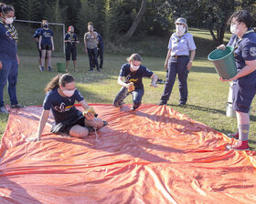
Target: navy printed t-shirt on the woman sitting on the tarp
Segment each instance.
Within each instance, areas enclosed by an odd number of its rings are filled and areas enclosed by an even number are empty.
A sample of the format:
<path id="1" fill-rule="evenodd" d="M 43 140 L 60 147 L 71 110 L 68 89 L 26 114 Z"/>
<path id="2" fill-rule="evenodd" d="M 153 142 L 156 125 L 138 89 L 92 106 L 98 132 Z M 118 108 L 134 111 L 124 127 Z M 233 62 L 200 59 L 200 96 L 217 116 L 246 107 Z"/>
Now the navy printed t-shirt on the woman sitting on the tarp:
<path id="1" fill-rule="evenodd" d="M 45 110 L 51 109 L 55 123 L 63 122 L 72 117 L 81 115 L 81 111 L 78 110 L 74 104 L 77 100 L 82 101 L 84 98 L 80 95 L 80 92 L 76 89 L 75 93 L 71 97 L 62 97 L 59 95 L 58 87 L 48 92 L 45 97 L 43 108 Z"/>

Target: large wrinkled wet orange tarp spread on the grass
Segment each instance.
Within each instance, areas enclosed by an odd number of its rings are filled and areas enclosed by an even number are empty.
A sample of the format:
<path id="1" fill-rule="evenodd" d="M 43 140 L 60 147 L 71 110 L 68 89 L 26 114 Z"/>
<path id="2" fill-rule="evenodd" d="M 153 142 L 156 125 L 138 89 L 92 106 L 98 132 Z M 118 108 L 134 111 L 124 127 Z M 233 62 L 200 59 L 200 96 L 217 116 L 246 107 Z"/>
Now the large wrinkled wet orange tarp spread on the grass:
<path id="1" fill-rule="evenodd" d="M 92 104 L 109 125 L 89 138 L 37 131 L 42 107 L 11 110 L 0 148 L 0 203 L 256 203 L 256 154 L 168 106 L 131 113 Z M 80 107 L 78 107 L 80 108 Z"/>

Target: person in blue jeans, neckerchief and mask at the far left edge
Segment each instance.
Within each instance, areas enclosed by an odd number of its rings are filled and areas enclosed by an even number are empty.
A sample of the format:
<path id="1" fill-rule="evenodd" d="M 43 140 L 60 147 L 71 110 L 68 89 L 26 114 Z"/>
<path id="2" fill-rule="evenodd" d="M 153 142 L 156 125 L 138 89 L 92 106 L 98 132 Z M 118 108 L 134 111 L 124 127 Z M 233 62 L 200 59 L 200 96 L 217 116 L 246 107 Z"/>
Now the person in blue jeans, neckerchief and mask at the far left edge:
<path id="1" fill-rule="evenodd" d="M 8 94 L 12 108 L 24 107 L 16 98 L 16 82 L 19 58 L 17 56 L 18 36 L 13 22 L 15 9 L 12 5 L 0 5 L 0 113 L 8 113 L 4 103 L 4 88 L 8 81 Z"/>

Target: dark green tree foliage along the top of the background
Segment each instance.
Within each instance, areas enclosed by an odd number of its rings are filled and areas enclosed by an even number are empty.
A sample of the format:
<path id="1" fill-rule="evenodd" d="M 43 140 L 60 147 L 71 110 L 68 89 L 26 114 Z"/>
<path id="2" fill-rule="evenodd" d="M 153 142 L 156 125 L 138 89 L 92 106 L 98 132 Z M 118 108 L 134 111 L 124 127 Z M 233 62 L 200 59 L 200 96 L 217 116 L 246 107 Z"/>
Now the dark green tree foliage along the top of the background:
<path id="1" fill-rule="evenodd" d="M 48 19 L 74 26 L 76 33 L 87 31 L 93 22 L 107 40 L 137 35 L 163 36 L 174 29 L 177 17 L 187 18 L 188 26 L 208 28 L 213 41 L 223 42 L 229 16 L 248 9 L 256 17 L 255 0 L 5 0 L 23 20 Z M 145 6 L 146 5 L 146 6 Z M 144 9 L 142 9 L 144 8 Z"/>

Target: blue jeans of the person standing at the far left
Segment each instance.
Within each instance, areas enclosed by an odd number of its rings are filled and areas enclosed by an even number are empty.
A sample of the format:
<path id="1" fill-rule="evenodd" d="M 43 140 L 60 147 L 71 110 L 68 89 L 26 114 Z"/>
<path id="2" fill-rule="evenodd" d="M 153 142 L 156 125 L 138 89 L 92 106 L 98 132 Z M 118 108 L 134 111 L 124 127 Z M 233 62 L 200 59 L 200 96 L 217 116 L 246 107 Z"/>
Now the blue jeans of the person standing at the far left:
<path id="1" fill-rule="evenodd" d="M 18 104 L 16 99 L 16 81 L 17 81 L 17 61 L 0 59 L 2 69 L 0 70 L 0 107 L 4 104 L 4 87 L 8 81 L 8 94 L 11 100 L 11 105 Z"/>

